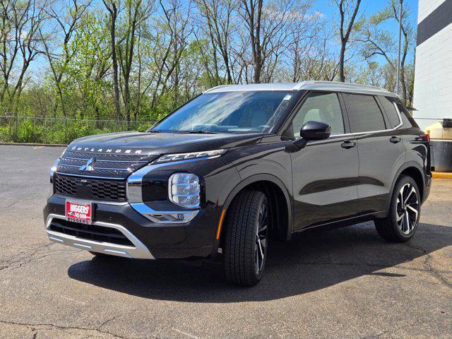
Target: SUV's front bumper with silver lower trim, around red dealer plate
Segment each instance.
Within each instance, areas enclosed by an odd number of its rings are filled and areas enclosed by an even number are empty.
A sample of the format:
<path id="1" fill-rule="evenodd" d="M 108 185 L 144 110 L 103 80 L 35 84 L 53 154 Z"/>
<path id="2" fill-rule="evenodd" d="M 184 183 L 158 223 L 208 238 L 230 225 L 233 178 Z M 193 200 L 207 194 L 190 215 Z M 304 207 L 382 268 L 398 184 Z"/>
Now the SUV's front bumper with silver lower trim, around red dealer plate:
<path id="1" fill-rule="evenodd" d="M 124 246 L 49 230 L 53 219 L 66 220 L 66 198 L 69 197 L 54 194 L 44 207 L 44 222 L 52 242 L 115 256 L 148 259 L 207 258 L 218 246 L 215 234 L 220 218 L 219 208 L 204 208 L 193 220 L 184 224 L 158 223 L 145 218 L 129 203 L 92 201 L 93 225 L 119 230 L 133 244 Z"/>

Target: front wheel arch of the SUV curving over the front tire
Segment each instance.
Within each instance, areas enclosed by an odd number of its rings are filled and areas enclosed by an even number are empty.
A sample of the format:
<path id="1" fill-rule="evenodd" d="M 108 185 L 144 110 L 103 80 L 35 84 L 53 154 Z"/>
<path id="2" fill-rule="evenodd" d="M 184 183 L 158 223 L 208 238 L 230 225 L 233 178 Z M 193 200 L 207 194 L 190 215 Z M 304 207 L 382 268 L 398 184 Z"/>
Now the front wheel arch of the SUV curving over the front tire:
<path id="1" fill-rule="evenodd" d="M 244 189 L 263 191 L 270 202 L 273 226 L 270 236 L 276 239 L 289 240 L 292 234 L 292 202 L 287 187 L 272 174 L 255 174 L 247 177 L 232 189 L 227 196 L 223 209 L 226 210 L 239 192 Z"/>

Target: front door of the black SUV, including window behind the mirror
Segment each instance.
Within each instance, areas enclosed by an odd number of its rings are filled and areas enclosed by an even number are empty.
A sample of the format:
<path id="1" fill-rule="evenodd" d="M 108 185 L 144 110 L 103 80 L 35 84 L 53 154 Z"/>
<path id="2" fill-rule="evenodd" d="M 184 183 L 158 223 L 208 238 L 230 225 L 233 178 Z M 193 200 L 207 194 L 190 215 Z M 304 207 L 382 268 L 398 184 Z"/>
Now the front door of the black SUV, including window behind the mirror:
<path id="1" fill-rule="evenodd" d="M 294 227 L 307 227 L 352 218 L 357 212 L 358 153 L 338 93 L 312 92 L 292 120 L 295 138 L 307 121 L 331 126 L 326 140 L 309 141 L 291 153 Z"/>

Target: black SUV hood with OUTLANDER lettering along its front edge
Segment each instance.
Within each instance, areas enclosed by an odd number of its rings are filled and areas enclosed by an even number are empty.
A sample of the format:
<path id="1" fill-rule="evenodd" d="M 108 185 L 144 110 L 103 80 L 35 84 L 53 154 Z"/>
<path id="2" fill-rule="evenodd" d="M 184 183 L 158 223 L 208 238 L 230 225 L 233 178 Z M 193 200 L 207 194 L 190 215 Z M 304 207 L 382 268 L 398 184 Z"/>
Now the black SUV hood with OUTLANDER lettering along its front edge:
<path id="1" fill-rule="evenodd" d="M 68 150 L 88 153 L 156 155 L 218 150 L 261 141 L 262 133 L 196 134 L 120 132 L 78 138 Z"/>

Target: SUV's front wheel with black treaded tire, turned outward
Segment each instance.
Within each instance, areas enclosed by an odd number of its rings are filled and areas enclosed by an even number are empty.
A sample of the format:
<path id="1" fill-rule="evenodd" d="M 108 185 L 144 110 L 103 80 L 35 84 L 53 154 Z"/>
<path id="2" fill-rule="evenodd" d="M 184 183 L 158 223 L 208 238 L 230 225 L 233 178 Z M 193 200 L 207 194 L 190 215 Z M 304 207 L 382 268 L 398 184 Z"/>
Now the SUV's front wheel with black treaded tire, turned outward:
<path id="1" fill-rule="evenodd" d="M 225 220 L 223 261 L 228 283 L 254 286 L 262 278 L 268 252 L 270 208 L 261 191 L 242 191 Z"/>

